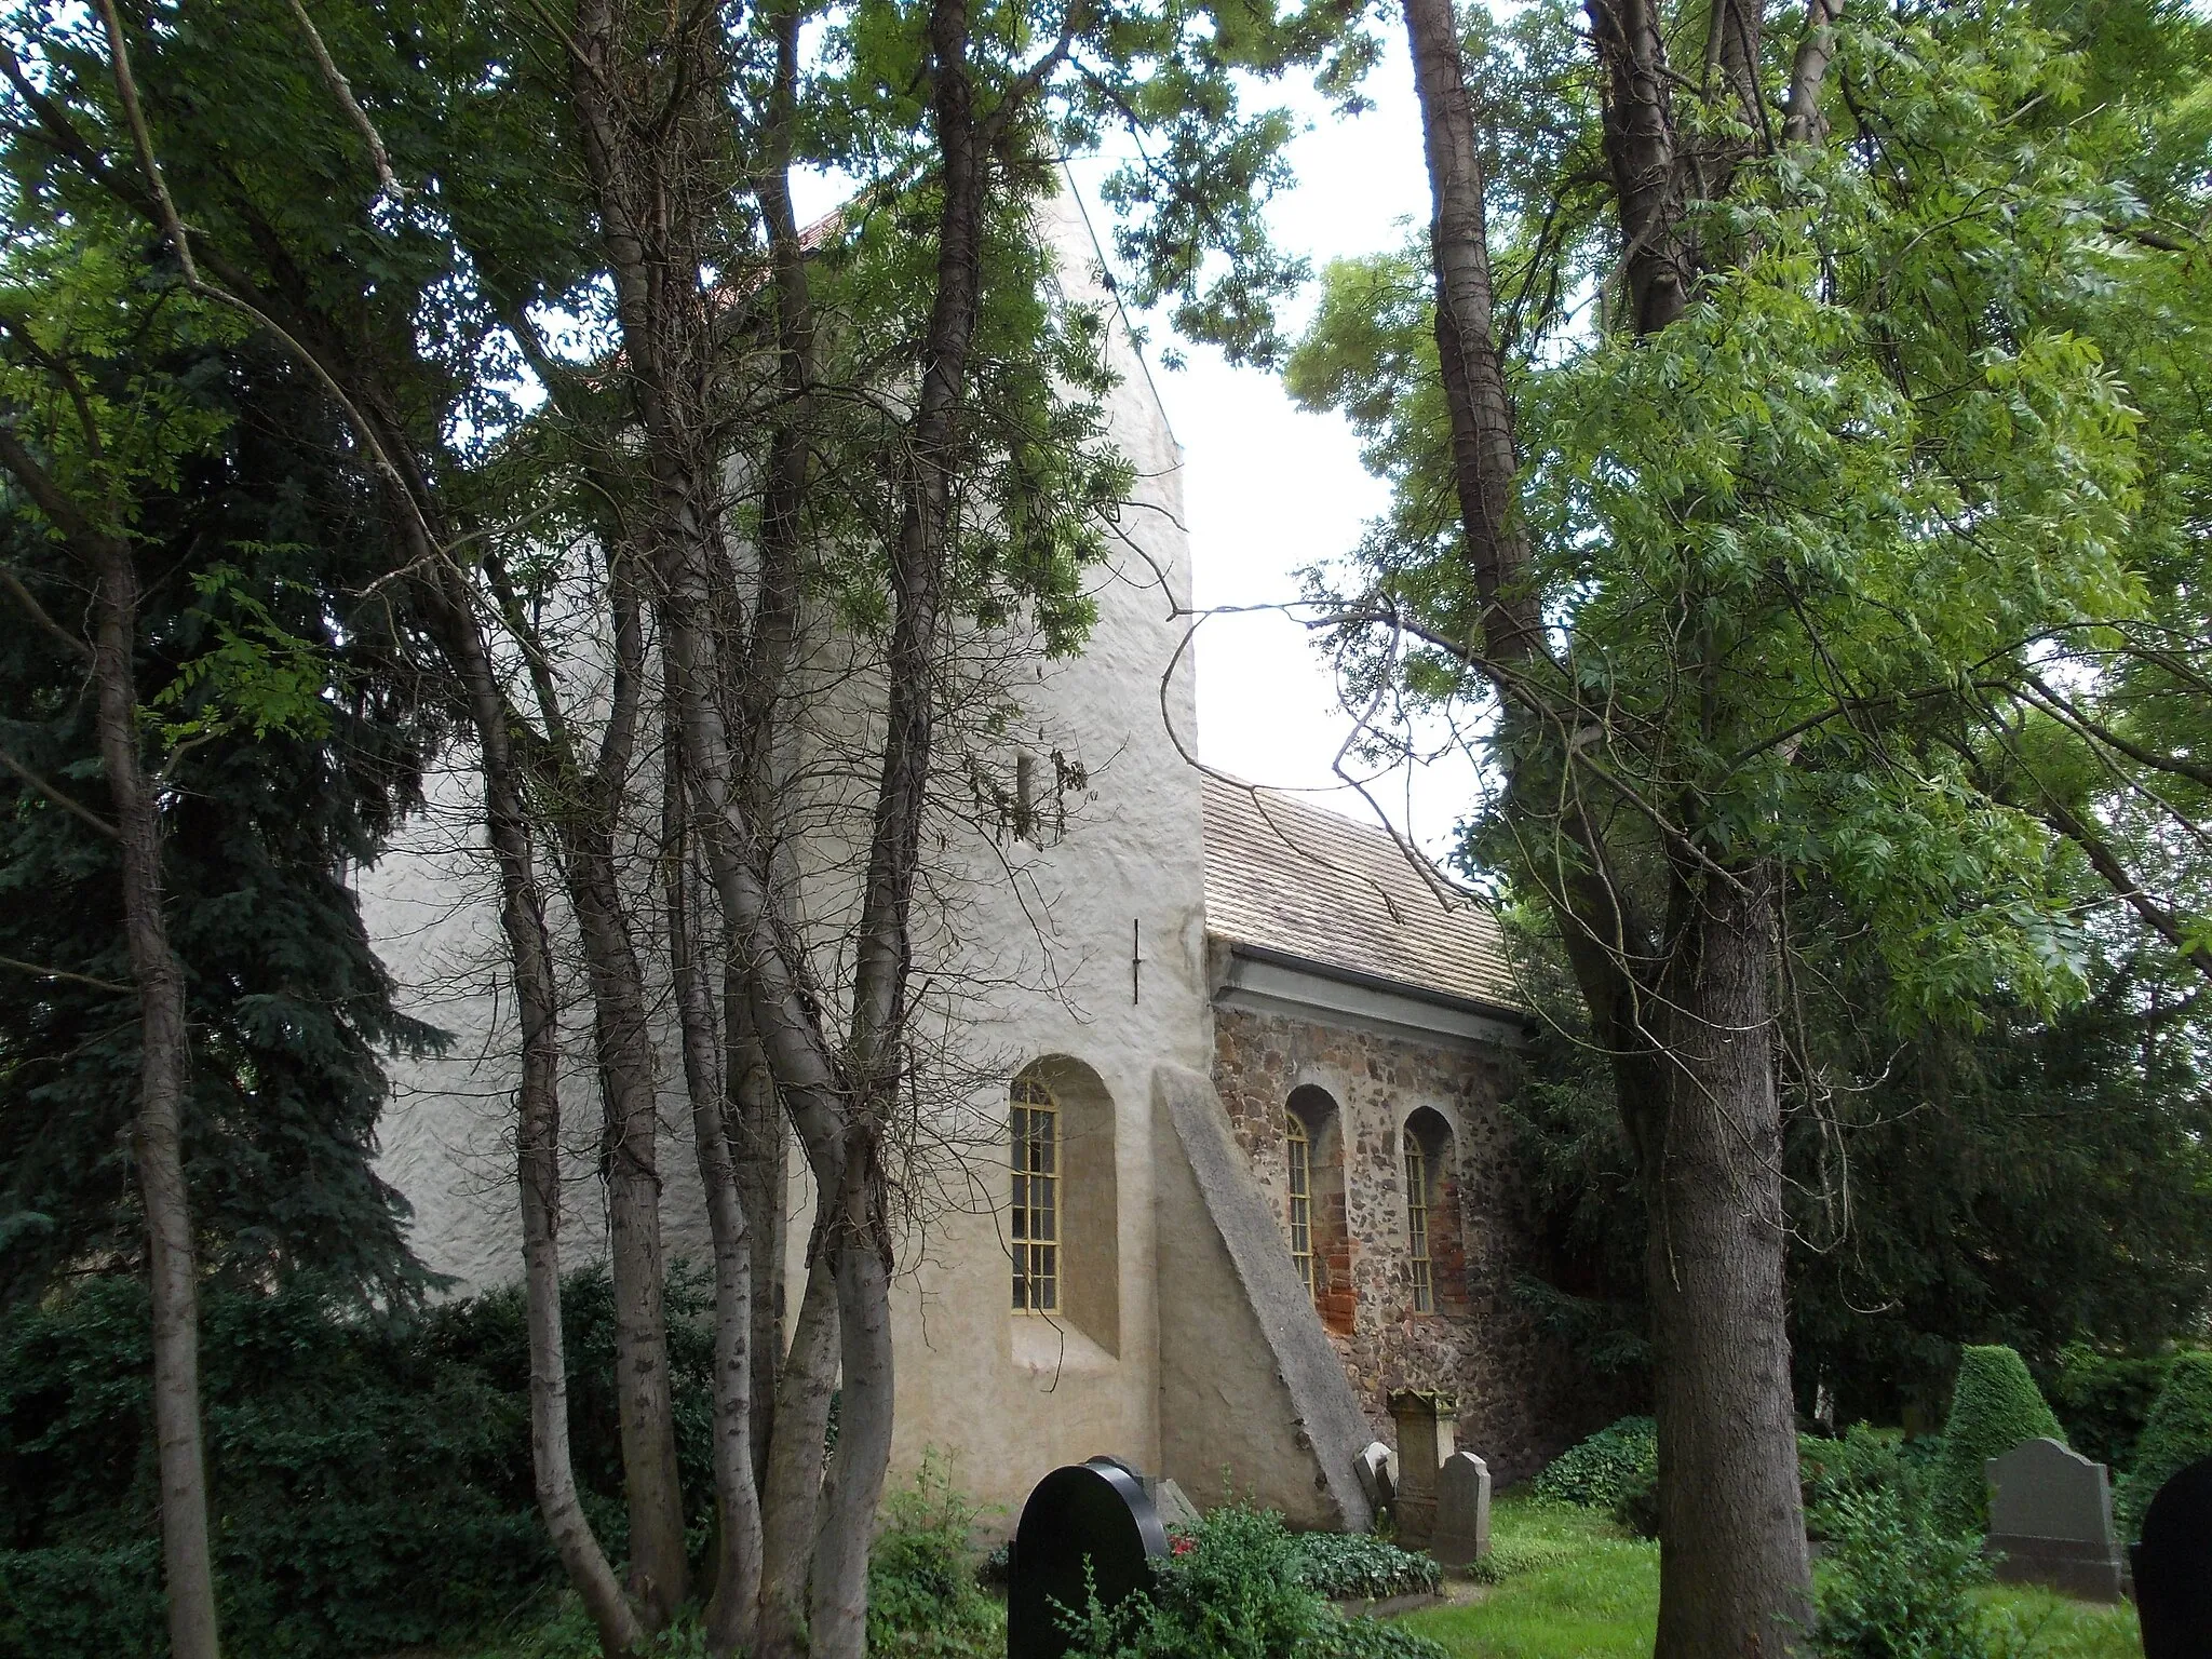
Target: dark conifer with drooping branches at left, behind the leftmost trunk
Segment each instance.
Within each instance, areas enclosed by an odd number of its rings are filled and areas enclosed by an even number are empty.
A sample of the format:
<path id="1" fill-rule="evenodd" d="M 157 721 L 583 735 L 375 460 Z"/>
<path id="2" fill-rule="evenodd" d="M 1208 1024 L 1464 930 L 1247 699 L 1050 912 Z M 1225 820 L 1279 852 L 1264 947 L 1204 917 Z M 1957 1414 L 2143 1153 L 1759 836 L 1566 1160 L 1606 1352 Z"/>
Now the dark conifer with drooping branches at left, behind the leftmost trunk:
<path id="1" fill-rule="evenodd" d="M 232 416 L 137 522 L 148 723 L 179 750 L 164 801 L 168 927 L 188 975 L 192 1095 L 184 1146 L 204 1261 L 232 1279 L 299 1265 L 380 1294 L 420 1270 L 405 1203 L 376 1177 L 378 1053 L 436 1037 L 398 1015 L 345 872 L 376 856 L 416 796 L 425 712 L 385 599 L 369 493 L 338 467 L 343 434 L 296 372 L 252 354 L 186 378 Z M 0 560 L 64 628 L 86 608 L 75 568 L 20 515 Z M 226 641 L 283 635 L 319 661 L 290 688 L 319 734 L 221 730 L 206 672 Z M 327 675 L 327 679 L 319 679 Z M 199 723 L 204 732 L 184 730 Z M 9 604 L 0 745 L 95 812 L 82 664 Z M 60 1270 L 128 1267 L 142 1250 L 128 1126 L 137 1018 L 113 843 L 0 772 L 0 1298 Z M 38 969 L 82 975 L 55 978 Z"/>

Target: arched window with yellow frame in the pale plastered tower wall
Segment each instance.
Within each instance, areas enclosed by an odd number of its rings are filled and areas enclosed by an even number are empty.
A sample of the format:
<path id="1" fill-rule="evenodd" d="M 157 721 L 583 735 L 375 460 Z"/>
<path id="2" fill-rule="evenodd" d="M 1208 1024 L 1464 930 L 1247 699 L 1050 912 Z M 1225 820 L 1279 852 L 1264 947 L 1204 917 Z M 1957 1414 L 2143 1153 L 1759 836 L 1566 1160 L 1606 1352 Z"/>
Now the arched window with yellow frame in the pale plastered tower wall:
<path id="1" fill-rule="evenodd" d="M 1048 1314 L 1121 1352 L 1121 1208 L 1115 1104 L 1071 1055 L 1044 1055 L 1006 1102 L 1013 1206 L 1006 1254 L 1018 1314 Z"/>

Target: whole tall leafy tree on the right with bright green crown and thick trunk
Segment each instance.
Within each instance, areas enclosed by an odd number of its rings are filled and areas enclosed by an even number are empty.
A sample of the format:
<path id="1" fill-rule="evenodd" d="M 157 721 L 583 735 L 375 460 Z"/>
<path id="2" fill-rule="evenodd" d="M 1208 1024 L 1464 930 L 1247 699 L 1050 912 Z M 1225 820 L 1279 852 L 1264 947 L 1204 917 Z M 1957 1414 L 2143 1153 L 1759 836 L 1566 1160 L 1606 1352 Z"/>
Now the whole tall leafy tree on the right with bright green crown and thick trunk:
<path id="1" fill-rule="evenodd" d="M 1659 1652 L 1787 1648 L 1785 1115 L 1849 1082 L 1801 1040 L 1805 929 L 1900 1013 L 2081 987 L 2046 803 L 1991 750 L 2055 641 L 2146 611 L 2115 367 L 2201 281 L 2161 226 L 2203 170 L 2146 201 L 2124 135 L 2177 40 L 2093 97 L 2115 64 L 2015 4 L 1405 22 L 1429 246 L 1332 270 L 1292 363 L 1396 507 L 1316 597 L 1363 699 L 1473 732 L 1467 858 L 1548 918 L 1613 1073 Z"/>

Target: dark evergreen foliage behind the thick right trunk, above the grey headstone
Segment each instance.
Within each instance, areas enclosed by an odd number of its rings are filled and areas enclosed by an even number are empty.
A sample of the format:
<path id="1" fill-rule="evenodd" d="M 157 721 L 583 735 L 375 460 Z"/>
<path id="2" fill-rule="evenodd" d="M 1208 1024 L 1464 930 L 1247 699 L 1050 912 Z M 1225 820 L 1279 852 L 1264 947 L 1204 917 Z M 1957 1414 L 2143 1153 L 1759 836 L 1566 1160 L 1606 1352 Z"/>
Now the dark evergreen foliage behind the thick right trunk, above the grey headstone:
<path id="1" fill-rule="evenodd" d="M 1847 964 L 1832 987 L 1832 1024 L 1801 1035 L 1832 1088 L 1814 1110 L 1798 1086 L 1785 1141 L 1801 1411 L 1825 1389 L 1836 1422 L 1918 1413 L 1933 1429 L 1962 1343 L 2004 1343 L 2051 1374 L 2068 1345 L 2143 1354 L 2197 1327 L 2212 1301 L 2212 1095 L 2199 1009 L 2157 964 L 2097 962 L 2088 1002 L 2053 1020 L 1995 1002 L 1971 1033 L 1854 1020 L 1880 989 Z M 1544 1263 L 1520 1294 L 1593 1369 L 1635 1374 L 1646 1221 L 1610 1075 L 1551 1040 L 1506 1110 Z M 2112 1422 L 2090 1455 L 2119 1467 L 2148 1409 L 2121 1396 L 2143 1378 L 2081 1371 L 2081 1413 Z"/>

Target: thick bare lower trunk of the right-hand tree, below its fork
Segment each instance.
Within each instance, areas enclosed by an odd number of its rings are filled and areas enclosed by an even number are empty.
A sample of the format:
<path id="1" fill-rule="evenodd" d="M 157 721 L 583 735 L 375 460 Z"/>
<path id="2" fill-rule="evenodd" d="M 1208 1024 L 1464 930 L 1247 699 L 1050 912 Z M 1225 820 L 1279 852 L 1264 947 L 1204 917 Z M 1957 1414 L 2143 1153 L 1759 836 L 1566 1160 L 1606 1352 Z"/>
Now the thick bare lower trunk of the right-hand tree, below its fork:
<path id="1" fill-rule="evenodd" d="M 1774 872 L 1697 883 L 1639 1124 L 1659 1416 L 1655 1659 L 1787 1652 L 1812 1617 L 1783 1283 Z M 1650 1071 L 1646 1071 L 1650 1075 Z"/>

